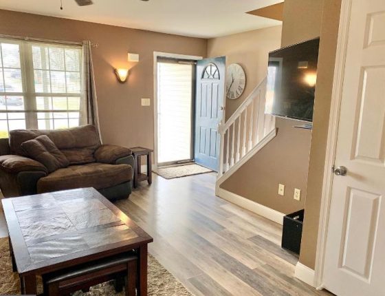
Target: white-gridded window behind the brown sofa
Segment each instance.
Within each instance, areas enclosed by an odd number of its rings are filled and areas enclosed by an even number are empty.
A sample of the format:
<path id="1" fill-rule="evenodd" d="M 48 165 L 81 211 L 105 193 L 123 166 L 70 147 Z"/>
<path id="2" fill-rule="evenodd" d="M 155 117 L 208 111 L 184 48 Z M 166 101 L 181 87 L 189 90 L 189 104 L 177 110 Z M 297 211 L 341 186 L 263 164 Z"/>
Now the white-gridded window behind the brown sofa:
<path id="1" fill-rule="evenodd" d="M 82 125 L 82 48 L 0 39 L 0 138 Z"/>

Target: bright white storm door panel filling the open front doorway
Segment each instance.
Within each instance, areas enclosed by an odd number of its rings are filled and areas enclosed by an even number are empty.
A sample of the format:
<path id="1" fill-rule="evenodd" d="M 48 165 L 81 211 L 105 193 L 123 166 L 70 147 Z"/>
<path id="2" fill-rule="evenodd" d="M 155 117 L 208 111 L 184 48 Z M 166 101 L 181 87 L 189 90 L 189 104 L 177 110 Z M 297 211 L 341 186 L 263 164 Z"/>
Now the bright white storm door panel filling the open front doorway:
<path id="1" fill-rule="evenodd" d="M 158 165 L 192 160 L 195 64 L 157 61 Z"/>

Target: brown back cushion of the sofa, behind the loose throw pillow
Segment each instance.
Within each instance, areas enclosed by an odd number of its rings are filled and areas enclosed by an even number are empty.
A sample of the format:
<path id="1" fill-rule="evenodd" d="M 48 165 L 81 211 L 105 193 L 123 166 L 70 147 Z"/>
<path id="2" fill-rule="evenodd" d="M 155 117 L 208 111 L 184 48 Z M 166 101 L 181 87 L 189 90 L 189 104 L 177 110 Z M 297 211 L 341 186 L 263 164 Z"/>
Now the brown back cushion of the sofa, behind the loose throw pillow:
<path id="1" fill-rule="evenodd" d="M 94 151 L 100 146 L 100 139 L 94 125 L 83 125 L 72 129 L 16 129 L 10 131 L 12 154 L 27 156 L 21 143 L 46 135 L 67 157 L 69 165 L 94 162 Z"/>

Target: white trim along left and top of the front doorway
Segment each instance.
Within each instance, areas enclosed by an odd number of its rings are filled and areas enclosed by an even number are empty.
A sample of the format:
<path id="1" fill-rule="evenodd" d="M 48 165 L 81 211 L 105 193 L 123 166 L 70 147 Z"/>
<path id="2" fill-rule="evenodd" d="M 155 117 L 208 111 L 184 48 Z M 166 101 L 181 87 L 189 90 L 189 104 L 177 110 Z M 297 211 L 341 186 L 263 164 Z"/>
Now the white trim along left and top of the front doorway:
<path id="1" fill-rule="evenodd" d="M 158 56 L 170 59 L 184 59 L 199 61 L 203 59 L 203 56 L 188 56 L 186 54 L 171 54 L 168 52 L 154 52 L 153 62 L 153 77 L 154 77 L 154 165 L 153 168 L 157 169 L 157 58 Z"/>

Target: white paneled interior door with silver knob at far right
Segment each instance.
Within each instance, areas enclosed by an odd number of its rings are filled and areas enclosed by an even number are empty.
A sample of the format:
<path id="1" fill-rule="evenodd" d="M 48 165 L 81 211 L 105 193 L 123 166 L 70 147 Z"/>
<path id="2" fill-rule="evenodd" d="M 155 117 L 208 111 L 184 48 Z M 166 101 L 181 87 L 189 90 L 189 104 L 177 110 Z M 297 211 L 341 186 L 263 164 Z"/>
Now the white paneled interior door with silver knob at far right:
<path id="1" fill-rule="evenodd" d="M 385 1 L 350 5 L 323 284 L 336 295 L 385 295 Z M 343 5 L 344 6 L 344 5 Z M 348 6 L 344 6 L 348 7 Z"/>

